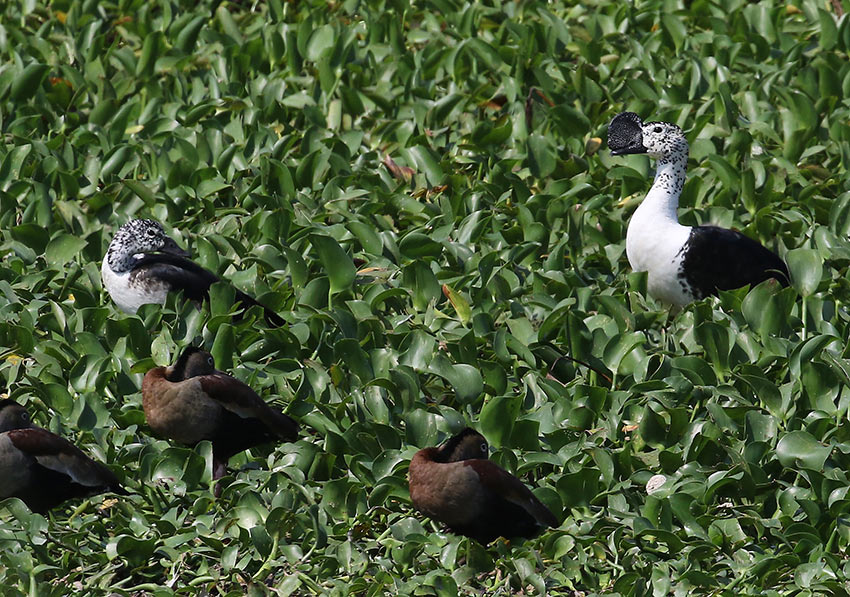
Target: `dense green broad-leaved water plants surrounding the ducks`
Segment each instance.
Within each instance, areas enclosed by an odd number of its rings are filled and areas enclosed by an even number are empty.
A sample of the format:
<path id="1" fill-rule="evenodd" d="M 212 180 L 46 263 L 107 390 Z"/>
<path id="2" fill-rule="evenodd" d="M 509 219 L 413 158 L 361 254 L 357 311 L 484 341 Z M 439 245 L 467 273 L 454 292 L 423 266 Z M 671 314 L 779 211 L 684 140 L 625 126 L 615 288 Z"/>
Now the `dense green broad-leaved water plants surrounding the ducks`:
<path id="1" fill-rule="evenodd" d="M 6 501 L 5 596 L 848 592 L 832 4 L 0 6 L 0 385 L 132 493 Z M 645 296 L 650 164 L 600 147 L 623 109 L 686 130 L 683 222 L 758 238 L 795 288 Z M 100 262 L 142 216 L 289 326 L 234 321 L 224 284 L 120 313 Z M 209 445 L 141 411 L 193 342 L 304 428 L 220 499 Z M 467 422 L 560 528 L 484 549 L 412 510 L 407 461 Z"/>

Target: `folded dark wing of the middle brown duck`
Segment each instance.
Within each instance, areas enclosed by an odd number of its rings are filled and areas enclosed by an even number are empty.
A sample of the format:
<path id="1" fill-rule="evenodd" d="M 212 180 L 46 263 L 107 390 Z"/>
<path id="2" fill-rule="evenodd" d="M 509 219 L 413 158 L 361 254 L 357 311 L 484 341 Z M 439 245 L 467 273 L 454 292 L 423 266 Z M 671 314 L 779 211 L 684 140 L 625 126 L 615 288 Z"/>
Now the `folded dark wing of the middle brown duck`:
<path id="1" fill-rule="evenodd" d="M 298 438 L 298 423 L 272 408 L 250 387 L 226 373 L 217 372 L 198 378 L 211 399 L 242 419 L 261 421 L 277 437 L 289 441 Z"/>

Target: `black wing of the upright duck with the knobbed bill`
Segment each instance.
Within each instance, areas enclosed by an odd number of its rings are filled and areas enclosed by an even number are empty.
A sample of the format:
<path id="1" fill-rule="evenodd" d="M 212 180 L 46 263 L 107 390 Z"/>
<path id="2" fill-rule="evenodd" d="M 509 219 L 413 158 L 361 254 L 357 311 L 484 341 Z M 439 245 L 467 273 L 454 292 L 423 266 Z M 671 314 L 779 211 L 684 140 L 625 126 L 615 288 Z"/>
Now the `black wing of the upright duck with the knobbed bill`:
<path id="1" fill-rule="evenodd" d="M 695 226 L 682 247 L 679 276 L 697 298 L 774 278 L 788 286 L 788 266 L 773 251 L 735 230 Z"/>

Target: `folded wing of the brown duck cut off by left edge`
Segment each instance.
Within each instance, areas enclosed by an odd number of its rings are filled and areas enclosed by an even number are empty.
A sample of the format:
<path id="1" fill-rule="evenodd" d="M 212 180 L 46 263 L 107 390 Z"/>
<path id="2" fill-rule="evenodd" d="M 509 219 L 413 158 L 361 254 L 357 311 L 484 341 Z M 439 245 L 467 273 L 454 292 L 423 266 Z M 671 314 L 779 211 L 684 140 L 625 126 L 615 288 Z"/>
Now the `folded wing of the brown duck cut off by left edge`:
<path id="1" fill-rule="evenodd" d="M 84 487 L 103 487 L 116 493 L 126 493 L 112 471 L 86 456 L 68 440 L 38 427 L 13 429 L 7 433 L 12 444 L 35 458 L 40 466 L 66 475 L 72 482 Z"/>

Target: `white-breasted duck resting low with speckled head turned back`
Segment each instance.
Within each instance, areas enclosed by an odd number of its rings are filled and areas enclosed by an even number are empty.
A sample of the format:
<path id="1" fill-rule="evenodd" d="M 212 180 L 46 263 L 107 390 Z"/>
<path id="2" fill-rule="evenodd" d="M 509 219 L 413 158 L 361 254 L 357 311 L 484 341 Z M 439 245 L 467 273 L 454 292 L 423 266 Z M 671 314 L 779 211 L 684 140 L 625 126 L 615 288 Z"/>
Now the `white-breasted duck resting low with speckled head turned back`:
<path id="1" fill-rule="evenodd" d="M 164 304 L 166 295 L 174 290 L 200 301 L 207 298 L 210 286 L 219 277 L 188 256 L 159 222 L 130 220 L 109 243 L 100 275 L 109 296 L 125 313 L 135 313 L 142 305 Z M 271 325 L 285 323 L 280 315 L 240 290 L 236 290 L 236 300 L 246 308 L 260 305 Z"/>

